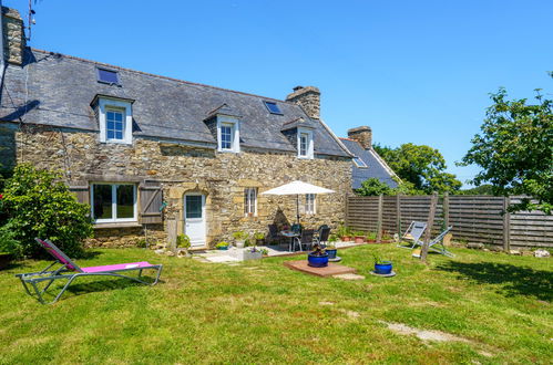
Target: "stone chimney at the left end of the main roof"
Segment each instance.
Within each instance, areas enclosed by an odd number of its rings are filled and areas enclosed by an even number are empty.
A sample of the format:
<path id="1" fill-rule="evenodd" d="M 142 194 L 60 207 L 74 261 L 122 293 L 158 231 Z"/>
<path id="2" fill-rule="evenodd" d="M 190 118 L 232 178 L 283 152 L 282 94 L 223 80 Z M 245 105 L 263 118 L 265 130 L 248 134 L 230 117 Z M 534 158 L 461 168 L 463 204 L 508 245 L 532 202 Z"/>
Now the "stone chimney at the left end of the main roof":
<path id="1" fill-rule="evenodd" d="M 19 11 L 2 7 L 3 59 L 6 62 L 21 65 L 25 48 L 23 19 Z"/>

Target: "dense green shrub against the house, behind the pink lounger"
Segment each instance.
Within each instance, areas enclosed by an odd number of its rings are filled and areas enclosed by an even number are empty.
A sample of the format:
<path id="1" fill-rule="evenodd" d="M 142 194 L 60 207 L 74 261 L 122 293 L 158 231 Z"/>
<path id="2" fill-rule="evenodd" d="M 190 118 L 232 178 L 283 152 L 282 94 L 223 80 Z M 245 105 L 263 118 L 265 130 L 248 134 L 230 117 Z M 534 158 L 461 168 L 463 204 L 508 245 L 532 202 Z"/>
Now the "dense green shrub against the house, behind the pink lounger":
<path id="1" fill-rule="evenodd" d="M 40 237 L 79 257 L 83 253 L 82 240 L 93 234 L 90 207 L 76 201 L 59 174 L 30 164 L 18 165 L 6 181 L 2 200 L 10 230 L 24 255 L 43 254 L 34 242 Z"/>

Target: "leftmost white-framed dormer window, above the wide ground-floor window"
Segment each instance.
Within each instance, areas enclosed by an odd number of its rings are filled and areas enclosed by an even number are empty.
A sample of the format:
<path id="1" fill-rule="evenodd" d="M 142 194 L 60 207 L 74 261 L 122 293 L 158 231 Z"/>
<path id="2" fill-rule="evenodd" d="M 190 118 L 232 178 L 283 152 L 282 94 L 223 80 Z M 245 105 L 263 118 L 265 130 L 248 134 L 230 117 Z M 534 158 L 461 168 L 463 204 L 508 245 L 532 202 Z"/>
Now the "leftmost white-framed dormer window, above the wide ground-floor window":
<path id="1" fill-rule="evenodd" d="M 98 100 L 100 142 L 133 143 L 133 112 L 130 102 L 100 97 Z"/>

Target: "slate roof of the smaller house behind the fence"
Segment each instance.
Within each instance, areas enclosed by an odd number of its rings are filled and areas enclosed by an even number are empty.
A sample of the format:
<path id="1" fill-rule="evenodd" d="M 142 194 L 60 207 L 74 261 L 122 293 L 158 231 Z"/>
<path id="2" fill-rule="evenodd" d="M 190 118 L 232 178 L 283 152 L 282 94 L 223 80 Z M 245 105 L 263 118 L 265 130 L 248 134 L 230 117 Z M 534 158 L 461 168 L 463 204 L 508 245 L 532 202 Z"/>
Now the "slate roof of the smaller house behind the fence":
<path id="1" fill-rule="evenodd" d="M 367 167 L 357 167 L 352 164 L 351 187 L 358 189 L 361 182 L 368 178 L 376 177 L 380 181 L 386 182 L 390 188 L 396 188 L 398 182 L 392 178 L 396 174 L 386 165 L 386 163 L 378 156 L 375 149 L 365 149 L 361 145 L 354 139 L 340 138 L 341 143 L 349 149 L 351 155 L 359 157 L 363 160 Z"/>

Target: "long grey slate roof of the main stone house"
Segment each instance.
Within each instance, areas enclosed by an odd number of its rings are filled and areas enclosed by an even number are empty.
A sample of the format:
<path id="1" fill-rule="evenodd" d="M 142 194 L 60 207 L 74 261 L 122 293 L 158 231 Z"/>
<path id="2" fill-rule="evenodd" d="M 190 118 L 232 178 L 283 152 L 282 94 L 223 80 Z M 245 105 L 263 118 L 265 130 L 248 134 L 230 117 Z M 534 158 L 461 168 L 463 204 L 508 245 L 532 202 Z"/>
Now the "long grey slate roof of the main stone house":
<path id="1" fill-rule="evenodd" d="M 116 70 L 121 86 L 99 83 L 98 66 Z M 280 128 L 304 118 L 316 127 L 315 154 L 349 157 L 334 134 L 296 104 L 35 49 L 27 49 L 23 67 L 8 66 L 0 119 L 24 117 L 27 123 L 99 131 L 90 106 L 96 94 L 134 100 L 135 136 L 199 142 L 215 148 L 215 137 L 204 121 L 226 104 L 242 116 L 243 148 L 295 152 Z M 275 102 L 283 115 L 270 114 L 264 101 Z"/>

